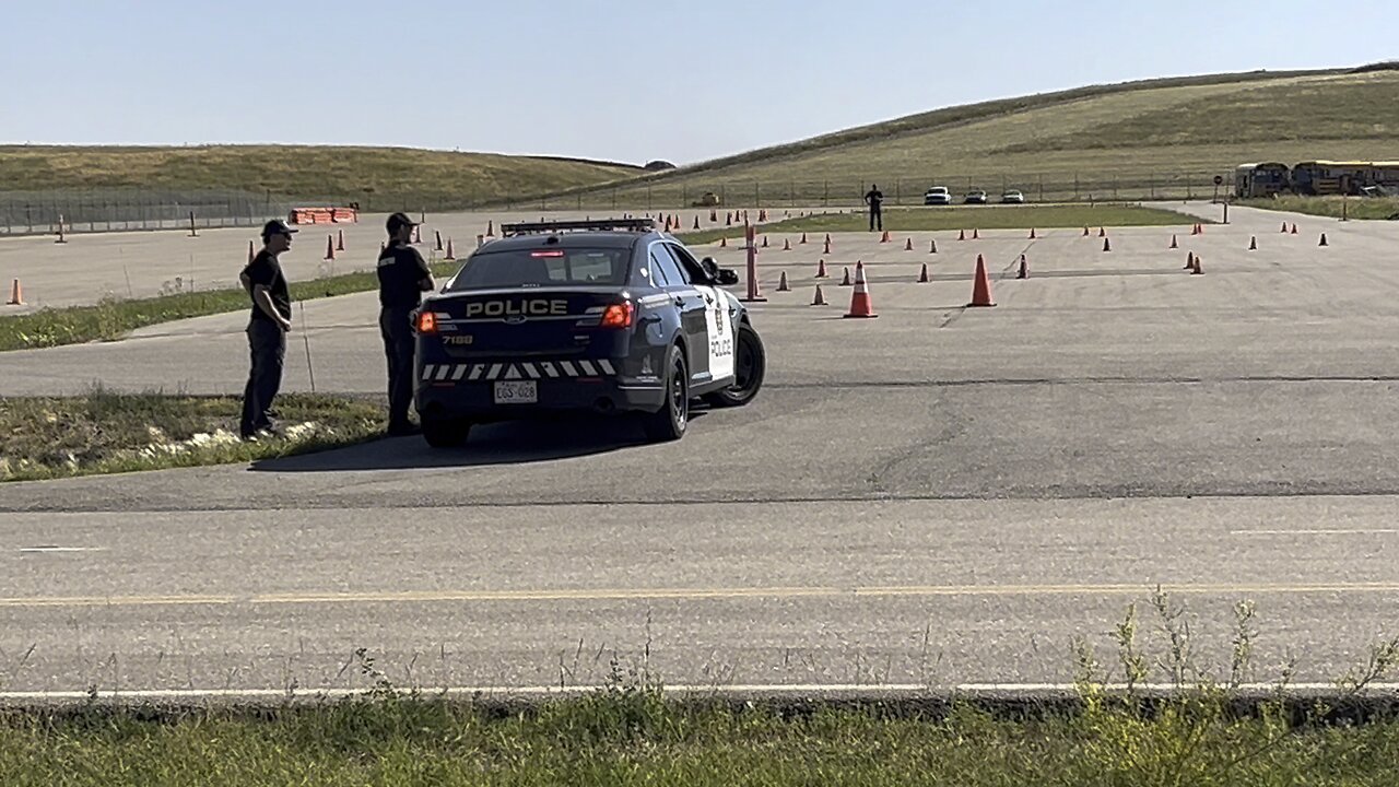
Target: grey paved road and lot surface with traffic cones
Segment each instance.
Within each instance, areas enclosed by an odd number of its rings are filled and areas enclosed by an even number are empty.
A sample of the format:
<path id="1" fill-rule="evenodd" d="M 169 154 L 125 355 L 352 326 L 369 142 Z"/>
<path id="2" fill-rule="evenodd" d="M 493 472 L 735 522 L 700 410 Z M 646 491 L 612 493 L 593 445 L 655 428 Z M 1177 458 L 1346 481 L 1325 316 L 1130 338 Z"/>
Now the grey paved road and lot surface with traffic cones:
<path id="1" fill-rule="evenodd" d="M 357 648 L 424 685 L 595 685 L 614 655 L 690 685 L 1059 682 L 1074 636 L 1109 660 L 1132 602 L 1164 653 L 1156 584 L 1202 665 L 1227 668 L 1254 599 L 1251 678 L 1288 654 L 1339 676 L 1399 633 L 1399 228 L 1231 220 L 1114 230 L 1107 253 L 1063 230 L 837 235 L 825 308 L 820 246 L 774 237 L 768 386 L 679 444 L 501 424 L 453 452 L 6 485 L 0 688 L 364 685 Z M 964 308 L 977 253 L 996 308 Z M 839 316 L 856 259 L 879 319 Z M 372 295 L 306 318 L 320 389 L 382 388 Z M 235 392 L 242 323 L 6 353 L 0 394 Z"/>

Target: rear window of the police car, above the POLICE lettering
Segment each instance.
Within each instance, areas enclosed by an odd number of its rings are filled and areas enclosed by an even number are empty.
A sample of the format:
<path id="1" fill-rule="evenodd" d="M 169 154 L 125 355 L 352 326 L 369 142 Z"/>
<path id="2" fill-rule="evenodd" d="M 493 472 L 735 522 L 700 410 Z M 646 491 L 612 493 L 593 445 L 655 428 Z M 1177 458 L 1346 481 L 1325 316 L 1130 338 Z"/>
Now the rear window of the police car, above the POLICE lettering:
<path id="1" fill-rule="evenodd" d="M 448 291 L 495 287 L 623 286 L 630 249 L 515 249 L 478 253 Z"/>

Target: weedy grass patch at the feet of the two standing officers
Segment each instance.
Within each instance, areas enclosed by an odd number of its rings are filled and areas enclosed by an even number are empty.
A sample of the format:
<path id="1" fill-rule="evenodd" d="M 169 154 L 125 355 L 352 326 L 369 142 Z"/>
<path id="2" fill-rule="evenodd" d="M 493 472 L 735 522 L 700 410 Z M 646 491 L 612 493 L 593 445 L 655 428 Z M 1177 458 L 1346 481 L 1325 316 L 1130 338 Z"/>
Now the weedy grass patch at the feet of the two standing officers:
<path id="1" fill-rule="evenodd" d="M 242 441 L 242 401 L 94 389 L 69 398 L 0 398 L 0 480 L 252 462 L 362 443 L 383 433 L 368 398 L 285 394 L 287 434 Z"/>

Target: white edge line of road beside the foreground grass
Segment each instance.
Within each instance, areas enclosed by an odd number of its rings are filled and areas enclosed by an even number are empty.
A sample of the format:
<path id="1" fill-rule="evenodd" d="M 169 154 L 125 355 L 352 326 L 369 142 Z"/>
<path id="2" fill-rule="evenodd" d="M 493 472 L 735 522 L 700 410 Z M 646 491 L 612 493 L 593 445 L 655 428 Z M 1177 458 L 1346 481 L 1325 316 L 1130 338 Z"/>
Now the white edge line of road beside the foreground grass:
<path id="1" fill-rule="evenodd" d="M 406 686 L 414 688 L 414 686 Z M 1126 690 L 1126 683 L 1105 683 L 1101 686 L 1109 692 Z M 1136 690 L 1150 693 L 1170 693 L 1177 690 L 1191 692 L 1195 686 L 1186 683 L 1178 689 L 1174 683 L 1137 683 Z M 575 696 L 590 695 L 596 686 L 416 686 L 422 696 Z M 179 699 L 259 699 L 259 697 L 355 697 L 368 695 L 375 689 L 309 689 L 302 688 L 294 692 L 287 689 L 99 689 L 99 699 L 132 699 L 132 700 L 179 700 Z M 818 695 L 818 693 L 863 693 L 863 695 L 1003 695 L 1003 693 L 1074 693 L 1076 683 L 957 683 L 954 686 L 922 683 L 734 683 L 734 685 L 666 685 L 662 690 L 667 695 Z M 1276 683 L 1241 683 L 1241 692 L 1276 692 Z M 1340 690 L 1336 683 L 1288 683 L 1286 692 L 1333 692 Z M 1370 683 L 1364 693 L 1399 692 L 1399 683 Z M 85 700 L 90 695 L 85 690 L 55 690 L 55 692 L 0 692 L 0 703 L 4 702 L 34 702 L 34 700 Z"/>

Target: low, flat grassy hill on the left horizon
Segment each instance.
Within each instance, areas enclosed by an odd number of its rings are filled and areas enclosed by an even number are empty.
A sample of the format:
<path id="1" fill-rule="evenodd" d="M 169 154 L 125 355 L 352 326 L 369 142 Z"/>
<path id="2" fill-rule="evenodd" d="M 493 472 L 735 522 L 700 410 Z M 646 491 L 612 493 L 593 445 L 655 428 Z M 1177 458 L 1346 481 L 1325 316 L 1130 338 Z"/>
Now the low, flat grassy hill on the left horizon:
<path id="1" fill-rule="evenodd" d="M 358 200 L 376 210 L 443 210 L 532 199 L 641 171 L 569 158 L 390 147 L 0 146 L 0 189 L 7 192 L 228 190 L 273 199 Z"/>

